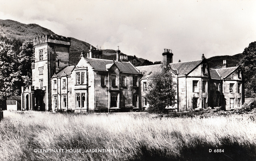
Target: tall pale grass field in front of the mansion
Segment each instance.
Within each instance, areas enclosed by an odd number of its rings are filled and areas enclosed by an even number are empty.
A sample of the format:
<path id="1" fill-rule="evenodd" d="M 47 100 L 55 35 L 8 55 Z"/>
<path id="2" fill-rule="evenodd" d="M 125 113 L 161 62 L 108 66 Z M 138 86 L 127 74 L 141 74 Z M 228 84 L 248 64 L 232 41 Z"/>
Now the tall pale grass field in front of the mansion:
<path id="1" fill-rule="evenodd" d="M 0 140 L 1 161 L 249 161 L 256 160 L 256 119 L 255 114 L 174 118 L 149 113 L 4 111 Z"/>

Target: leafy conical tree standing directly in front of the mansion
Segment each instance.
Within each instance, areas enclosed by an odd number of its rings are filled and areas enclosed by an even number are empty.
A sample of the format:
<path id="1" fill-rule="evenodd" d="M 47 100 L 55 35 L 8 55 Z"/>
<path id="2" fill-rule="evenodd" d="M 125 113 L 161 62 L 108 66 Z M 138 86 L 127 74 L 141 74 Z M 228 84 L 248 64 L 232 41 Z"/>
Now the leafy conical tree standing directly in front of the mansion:
<path id="1" fill-rule="evenodd" d="M 172 69 L 169 64 L 161 64 L 161 71 L 154 74 L 153 79 L 148 83 L 146 94 L 149 111 L 162 113 L 166 112 L 166 106 L 175 102 L 174 83 L 172 81 Z"/>

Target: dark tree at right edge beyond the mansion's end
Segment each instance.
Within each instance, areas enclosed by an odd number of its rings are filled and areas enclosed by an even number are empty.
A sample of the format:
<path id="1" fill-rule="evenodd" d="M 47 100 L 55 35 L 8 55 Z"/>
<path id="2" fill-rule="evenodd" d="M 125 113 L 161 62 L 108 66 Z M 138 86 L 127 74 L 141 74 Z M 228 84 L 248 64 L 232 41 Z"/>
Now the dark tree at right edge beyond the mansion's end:
<path id="1" fill-rule="evenodd" d="M 244 71 L 245 95 L 256 97 L 256 42 L 251 42 L 243 54 L 239 64 Z"/>

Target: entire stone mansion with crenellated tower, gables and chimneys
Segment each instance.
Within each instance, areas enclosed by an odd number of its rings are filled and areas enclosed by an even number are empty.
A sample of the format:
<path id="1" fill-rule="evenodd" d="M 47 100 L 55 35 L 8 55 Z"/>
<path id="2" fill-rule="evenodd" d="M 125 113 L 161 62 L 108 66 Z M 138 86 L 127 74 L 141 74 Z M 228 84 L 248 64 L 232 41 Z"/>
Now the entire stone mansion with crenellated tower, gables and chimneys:
<path id="1" fill-rule="evenodd" d="M 69 65 L 70 38 L 44 35 L 33 40 L 35 62 L 32 86 L 22 87 L 22 109 L 37 111 L 113 112 L 148 108 L 147 83 L 161 65 L 135 67 L 116 50 L 116 60 L 102 59 L 102 51 L 90 48 L 87 57 Z M 175 98 L 167 105 L 178 112 L 197 107 L 222 106 L 226 110 L 244 103 L 244 80 L 240 66 L 211 69 L 205 58 L 172 63 Z"/>

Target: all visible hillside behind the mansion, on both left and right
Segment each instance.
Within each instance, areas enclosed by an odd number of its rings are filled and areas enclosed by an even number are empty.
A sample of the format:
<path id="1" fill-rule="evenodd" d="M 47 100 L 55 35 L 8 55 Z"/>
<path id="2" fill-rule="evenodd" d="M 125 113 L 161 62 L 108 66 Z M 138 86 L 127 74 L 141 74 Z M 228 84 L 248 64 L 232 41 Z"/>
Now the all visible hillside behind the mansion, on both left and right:
<path id="1" fill-rule="evenodd" d="M 51 30 L 39 26 L 37 24 L 22 24 L 14 20 L 0 20 L 0 36 L 8 39 L 19 39 L 22 41 L 31 41 L 36 36 L 55 34 Z M 56 35 L 56 34 L 55 34 Z M 94 47 L 93 47 L 94 48 Z M 85 55 L 90 50 L 90 44 L 76 38 L 71 38 L 70 46 L 70 65 L 74 65 L 80 58 L 81 51 L 84 50 Z M 115 50 L 106 49 L 102 50 L 104 59 L 115 60 Z M 121 53 L 126 55 L 124 53 Z M 236 54 L 234 56 L 214 56 L 208 58 L 208 64 L 210 68 L 221 68 L 222 61 L 227 60 L 229 67 L 236 66 L 236 64 L 243 58 L 242 54 Z M 136 58 L 136 56 L 128 56 L 128 60 L 131 61 L 134 66 L 152 65 L 153 62 L 145 60 L 143 58 Z M 158 62 L 159 63 L 159 62 Z"/>

